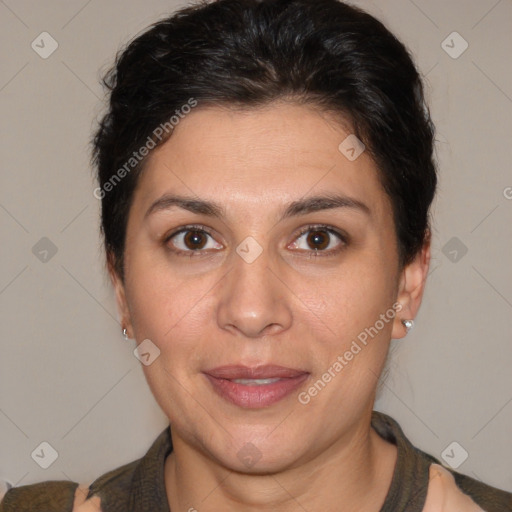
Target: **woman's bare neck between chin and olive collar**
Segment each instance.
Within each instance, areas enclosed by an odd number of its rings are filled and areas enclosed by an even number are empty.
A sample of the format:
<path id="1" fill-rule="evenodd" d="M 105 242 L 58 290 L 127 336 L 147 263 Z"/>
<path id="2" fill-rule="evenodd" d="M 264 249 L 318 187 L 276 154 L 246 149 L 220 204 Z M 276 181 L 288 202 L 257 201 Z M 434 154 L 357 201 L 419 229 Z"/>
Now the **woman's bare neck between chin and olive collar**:
<path id="1" fill-rule="evenodd" d="M 396 464 L 396 446 L 370 428 L 371 411 L 343 438 L 307 462 L 273 474 L 229 470 L 173 434 L 165 462 L 171 510 L 378 512 Z M 172 432 L 172 429 L 171 429 Z"/>

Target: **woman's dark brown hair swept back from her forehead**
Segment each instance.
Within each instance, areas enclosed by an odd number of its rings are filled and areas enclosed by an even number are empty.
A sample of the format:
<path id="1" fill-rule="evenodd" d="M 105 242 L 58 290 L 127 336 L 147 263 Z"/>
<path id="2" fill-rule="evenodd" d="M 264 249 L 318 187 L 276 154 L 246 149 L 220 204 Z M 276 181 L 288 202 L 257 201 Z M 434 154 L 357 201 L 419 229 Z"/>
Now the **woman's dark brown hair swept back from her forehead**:
<path id="1" fill-rule="evenodd" d="M 134 152 L 167 140 L 172 129 L 158 127 L 168 128 L 191 99 L 244 109 L 291 100 L 339 114 L 391 200 L 399 266 L 430 236 L 437 176 L 423 84 L 405 46 L 359 8 L 337 0 L 202 1 L 131 41 L 103 84 L 109 104 L 93 162 L 107 261 L 121 279 L 128 214 L 147 160 Z"/>

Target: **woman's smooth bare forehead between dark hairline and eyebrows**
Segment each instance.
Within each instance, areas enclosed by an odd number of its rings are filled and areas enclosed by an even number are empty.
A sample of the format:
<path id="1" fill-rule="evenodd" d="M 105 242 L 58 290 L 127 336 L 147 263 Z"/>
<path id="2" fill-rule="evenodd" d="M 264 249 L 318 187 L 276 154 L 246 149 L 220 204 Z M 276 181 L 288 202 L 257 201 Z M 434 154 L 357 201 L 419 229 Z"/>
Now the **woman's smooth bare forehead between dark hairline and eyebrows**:
<path id="1" fill-rule="evenodd" d="M 348 124 L 310 106 L 196 107 L 148 158 L 137 203 L 148 207 L 159 195 L 173 192 L 233 208 L 265 204 L 272 209 L 330 191 L 360 199 L 374 215 L 389 213 L 370 156 L 363 151 L 347 158 L 353 155 L 342 143 L 349 136 L 354 137 Z"/>

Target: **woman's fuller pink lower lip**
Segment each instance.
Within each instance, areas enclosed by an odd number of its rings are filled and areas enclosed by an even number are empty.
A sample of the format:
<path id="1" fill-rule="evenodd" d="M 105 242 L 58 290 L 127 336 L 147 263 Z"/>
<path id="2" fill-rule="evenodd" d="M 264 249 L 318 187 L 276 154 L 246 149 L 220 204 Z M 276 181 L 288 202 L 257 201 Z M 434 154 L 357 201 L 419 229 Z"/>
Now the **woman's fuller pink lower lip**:
<path id="1" fill-rule="evenodd" d="M 297 377 L 281 379 L 270 384 L 251 386 L 205 375 L 213 389 L 222 398 L 246 409 L 259 409 L 279 402 L 295 391 L 309 377 L 309 373 L 303 373 Z"/>

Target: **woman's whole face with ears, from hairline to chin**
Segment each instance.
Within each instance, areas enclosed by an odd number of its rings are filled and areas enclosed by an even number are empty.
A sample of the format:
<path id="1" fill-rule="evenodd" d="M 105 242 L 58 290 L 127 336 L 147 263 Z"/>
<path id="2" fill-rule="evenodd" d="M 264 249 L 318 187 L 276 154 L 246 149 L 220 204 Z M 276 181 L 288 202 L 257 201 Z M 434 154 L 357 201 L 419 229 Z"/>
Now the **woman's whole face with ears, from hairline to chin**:
<path id="1" fill-rule="evenodd" d="M 278 471 L 369 424 L 429 254 L 399 269 L 349 134 L 311 107 L 198 107 L 147 161 L 113 278 L 129 334 L 160 351 L 143 369 L 175 444 Z"/>

